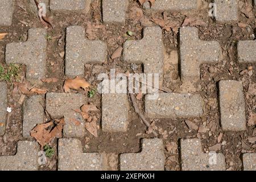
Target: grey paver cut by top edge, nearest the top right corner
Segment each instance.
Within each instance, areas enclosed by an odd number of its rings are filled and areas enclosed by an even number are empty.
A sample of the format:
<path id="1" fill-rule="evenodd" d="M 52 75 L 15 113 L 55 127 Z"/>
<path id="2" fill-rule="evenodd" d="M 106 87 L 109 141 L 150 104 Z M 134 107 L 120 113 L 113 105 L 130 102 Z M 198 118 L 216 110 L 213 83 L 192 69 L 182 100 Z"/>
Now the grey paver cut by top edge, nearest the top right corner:
<path id="1" fill-rule="evenodd" d="M 237 0 L 214 0 L 216 3 L 216 20 L 219 22 L 230 22 L 238 20 Z"/>

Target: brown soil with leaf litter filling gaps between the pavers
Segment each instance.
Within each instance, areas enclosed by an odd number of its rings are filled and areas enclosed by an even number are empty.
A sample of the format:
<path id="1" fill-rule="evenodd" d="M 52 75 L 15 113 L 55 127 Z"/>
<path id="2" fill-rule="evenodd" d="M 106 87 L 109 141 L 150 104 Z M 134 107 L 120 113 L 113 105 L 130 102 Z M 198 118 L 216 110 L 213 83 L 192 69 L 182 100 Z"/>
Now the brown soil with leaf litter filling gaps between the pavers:
<path id="1" fill-rule="evenodd" d="M 218 90 L 217 82 L 220 80 L 233 79 L 243 81 L 243 89 L 246 98 L 246 115 L 256 112 L 255 103 L 256 96 L 248 92 L 250 83 L 256 83 L 256 65 L 255 64 L 238 64 L 237 60 L 237 42 L 238 40 L 253 40 L 253 33 L 255 31 L 255 13 L 250 18 L 244 11 L 240 12 L 241 23 L 245 23 L 246 27 L 239 27 L 236 23 L 220 24 L 216 23 L 208 16 L 208 3 L 210 0 L 205 0 L 201 9 L 190 13 L 183 12 L 166 12 L 167 19 L 171 22 L 179 22 L 181 25 L 185 17 L 193 17 L 202 19 L 207 23 L 207 27 L 196 26 L 199 28 L 200 39 L 202 40 L 217 40 L 222 47 L 222 61 L 218 64 L 204 64 L 201 65 L 201 81 L 197 82 L 197 92 L 205 100 L 205 117 L 202 118 L 188 118 L 188 119 L 151 119 L 155 121 L 155 126 L 164 139 L 164 144 L 169 146 L 166 150 L 166 170 L 179 170 L 179 139 L 181 138 L 195 138 L 199 137 L 203 142 L 204 151 L 208 151 L 208 147 L 217 143 L 217 138 L 220 133 L 223 133 L 221 143 L 224 144 L 222 152 L 226 158 L 227 168 L 230 170 L 241 170 L 241 154 L 246 151 L 256 152 L 255 144 L 250 144 L 247 138 L 254 137 L 253 126 L 247 126 L 247 130 L 243 132 L 224 132 L 220 126 L 220 113 L 218 110 Z M 243 3 L 252 5 L 251 0 L 240 0 L 241 6 Z M 85 79 L 97 86 L 98 73 L 109 73 L 110 69 L 115 68 L 118 72 L 125 73 L 127 71 L 133 72 L 130 65 L 122 61 L 120 58 L 112 60 L 110 56 L 118 46 L 122 46 L 127 39 L 139 40 L 142 38 L 144 25 L 154 24 L 151 22 L 152 18 L 162 18 L 163 12 L 149 12 L 143 10 L 143 16 L 138 18 L 138 15 L 133 14 L 132 8 L 138 7 L 139 3 L 130 0 L 129 14 L 127 15 L 126 24 L 120 26 L 118 24 L 110 24 L 100 28 L 95 37 L 86 35 L 92 40 L 102 40 L 108 44 L 108 60 L 102 65 L 85 65 Z M 242 6 L 244 8 L 244 6 Z M 255 11 L 254 11 L 255 12 Z M 100 1 L 93 0 L 90 13 L 84 15 L 79 13 L 52 13 L 54 28 L 49 29 L 47 34 L 53 39 L 48 40 L 47 45 L 47 77 L 57 77 L 59 82 L 44 84 L 42 87 L 47 88 L 49 92 L 63 92 L 63 83 L 65 80 L 64 75 L 64 58 L 60 53 L 65 49 L 65 29 L 68 26 L 79 25 L 83 27 L 88 26 L 88 22 L 92 25 L 102 25 L 101 19 L 101 6 Z M 24 23 L 25 22 L 25 23 Z M 27 25 L 26 25 L 27 24 Z M 15 13 L 13 15 L 13 24 L 10 27 L 0 27 L 0 32 L 9 32 L 9 35 L 0 41 L 0 63 L 5 65 L 5 45 L 11 42 L 24 42 L 27 39 L 27 31 L 29 28 L 37 27 L 43 28 L 38 17 L 31 13 L 28 9 L 27 1 L 16 1 Z M 126 35 L 127 31 L 133 31 L 134 35 L 129 38 Z M 179 51 L 179 34 L 176 32 L 167 32 L 163 30 L 164 46 L 166 47 L 167 55 L 172 51 Z M 143 72 L 143 66 L 138 65 L 136 72 Z M 247 70 L 250 66 L 253 67 L 253 74 L 250 76 Z M 172 65 L 175 67 L 175 65 Z M 24 76 L 23 68 L 23 76 Z M 213 70 L 213 71 L 212 71 Z M 177 69 L 174 72 L 166 71 L 166 78 L 164 85 L 175 92 L 179 90 L 181 82 L 178 77 Z M 17 104 L 20 98 L 18 93 L 13 93 L 14 86 L 9 83 L 8 103 L 13 108 L 13 112 L 7 119 L 6 134 L 0 137 L 0 155 L 14 155 L 16 152 L 16 142 L 22 140 L 22 106 Z M 80 91 L 87 96 L 87 93 Z M 89 102 L 100 108 L 101 96 L 96 94 L 94 98 L 90 98 Z M 143 101 L 141 101 L 141 109 L 143 109 Z M 205 126 L 209 130 L 205 133 L 198 133 L 196 130 L 191 130 L 186 125 L 185 121 L 193 121 L 197 126 Z M 130 125 L 126 133 L 104 133 L 101 129 L 98 131 L 98 138 L 93 137 L 89 132 L 86 133 L 82 143 L 84 151 L 88 152 L 106 152 L 121 154 L 124 152 L 139 152 L 140 139 L 152 138 L 154 135 L 146 134 L 146 127 L 134 113 L 134 109 L 130 102 Z M 100 118 L 97 123 L 100 125 Z M 223 143 L 224 142 L 224 143 Z M 57 140 L 52 142 L 55 153 L 57 151 Z M 42 167 L 42 170 L 55 170 L 56 169 L 57 155 L 49 160 L 47 166 Z"/>

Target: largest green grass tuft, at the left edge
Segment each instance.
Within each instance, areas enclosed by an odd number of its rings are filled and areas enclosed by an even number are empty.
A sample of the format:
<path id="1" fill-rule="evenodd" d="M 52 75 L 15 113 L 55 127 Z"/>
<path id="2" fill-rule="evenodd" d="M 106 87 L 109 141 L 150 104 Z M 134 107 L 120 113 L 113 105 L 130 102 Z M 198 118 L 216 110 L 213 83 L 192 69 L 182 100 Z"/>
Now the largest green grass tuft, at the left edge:
<path id="1" fill-rule="evenodd" d="M 10 64 L 9 67 L 3 67 L 0 65 L 0 81 L 13 82 L 19 81 L 20 66 Z"/>

